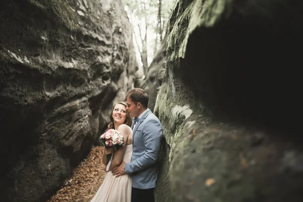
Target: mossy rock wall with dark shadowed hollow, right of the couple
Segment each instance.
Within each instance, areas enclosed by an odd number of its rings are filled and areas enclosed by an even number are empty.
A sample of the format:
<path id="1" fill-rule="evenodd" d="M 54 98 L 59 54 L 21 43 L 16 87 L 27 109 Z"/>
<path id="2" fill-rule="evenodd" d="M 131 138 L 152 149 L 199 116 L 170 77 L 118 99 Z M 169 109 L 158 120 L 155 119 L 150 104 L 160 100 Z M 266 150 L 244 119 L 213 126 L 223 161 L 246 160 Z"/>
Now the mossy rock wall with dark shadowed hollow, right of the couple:
<path id="1" fill-rule="evenodd" d="M 177 3 L 156 104 L 166 139 L 158 201 L 303 200 L 302 8 Z"/>

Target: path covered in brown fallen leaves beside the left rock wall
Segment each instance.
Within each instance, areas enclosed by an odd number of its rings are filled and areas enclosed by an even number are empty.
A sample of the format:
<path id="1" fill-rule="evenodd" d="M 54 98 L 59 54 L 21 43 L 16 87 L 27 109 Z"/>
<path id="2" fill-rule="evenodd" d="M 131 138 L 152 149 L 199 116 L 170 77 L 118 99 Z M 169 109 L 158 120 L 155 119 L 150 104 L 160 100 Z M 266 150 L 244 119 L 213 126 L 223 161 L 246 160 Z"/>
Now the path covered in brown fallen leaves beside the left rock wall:
<path id="1" fill-rule="evenodd" d="M 102 163 L 104 147 L 93 147 L 87 158 L 65 180 L 64 185 L 47 202 L 88 202 L 102 184 L 106 172 Z"/>

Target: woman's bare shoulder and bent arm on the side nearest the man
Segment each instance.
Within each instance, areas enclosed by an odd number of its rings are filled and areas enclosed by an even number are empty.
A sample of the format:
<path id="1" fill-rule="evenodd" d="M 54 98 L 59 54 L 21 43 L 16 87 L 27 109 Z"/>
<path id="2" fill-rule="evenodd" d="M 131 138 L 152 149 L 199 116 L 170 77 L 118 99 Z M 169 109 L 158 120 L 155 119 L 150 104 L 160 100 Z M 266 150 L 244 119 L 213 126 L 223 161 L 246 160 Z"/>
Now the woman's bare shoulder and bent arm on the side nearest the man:
<path id="1" fill-rule="evenodd" d="M 122 163 L 127 140 L 128 140 L 129 135 L 131 135 L 131 131 L 130 131 L 129 127 L 125 124 L 120 125 L 117 130 L 119 132 L 121 132 L 122 136 L 124 137 L 124 139 L 123 139 L 124 146 L 122 146 L 119 150 L 115 151 L 114 158 L 113 158 L 113 161 L 112 161 L 110 169 L 109 169 L 110 171 Z"/>

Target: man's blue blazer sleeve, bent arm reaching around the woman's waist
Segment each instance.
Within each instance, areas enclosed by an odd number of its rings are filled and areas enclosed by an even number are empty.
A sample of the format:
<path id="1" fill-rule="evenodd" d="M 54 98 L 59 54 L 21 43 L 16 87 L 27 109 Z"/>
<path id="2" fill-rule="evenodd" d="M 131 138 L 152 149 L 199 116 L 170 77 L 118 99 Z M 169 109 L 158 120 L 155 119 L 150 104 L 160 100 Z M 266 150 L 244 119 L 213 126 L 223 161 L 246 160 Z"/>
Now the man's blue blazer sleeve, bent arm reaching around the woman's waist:
<path id="1" fill-rule="evenodd" d="M 162 138 L 161 123 L 155 119 L 148 120 L 142 132 L 145 145 L 144 155 L 125 165 L 127 174 L 144 170 L 158 161 Z"/>

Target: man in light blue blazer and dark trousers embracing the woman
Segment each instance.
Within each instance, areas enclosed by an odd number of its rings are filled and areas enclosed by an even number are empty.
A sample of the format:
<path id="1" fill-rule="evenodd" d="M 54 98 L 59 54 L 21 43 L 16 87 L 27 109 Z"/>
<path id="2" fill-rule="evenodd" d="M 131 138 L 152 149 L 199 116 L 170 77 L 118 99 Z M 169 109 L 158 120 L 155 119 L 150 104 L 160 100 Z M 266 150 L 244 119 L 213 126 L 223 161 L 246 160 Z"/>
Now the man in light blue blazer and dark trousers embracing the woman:
<path id="1" fill-rule="evenodd" d="M 147 108 L 148 96 L 141 88 L 134 88 L 126 98 L 127 108 L 134 117 L 133 155 L 131 162 L 112 170 L 113 175 L 132 176 L 131 201 L 154 201 L 154 189 L 158 176 L 158 157 L 162 138 L 159 119 Z"/>

